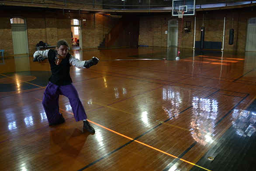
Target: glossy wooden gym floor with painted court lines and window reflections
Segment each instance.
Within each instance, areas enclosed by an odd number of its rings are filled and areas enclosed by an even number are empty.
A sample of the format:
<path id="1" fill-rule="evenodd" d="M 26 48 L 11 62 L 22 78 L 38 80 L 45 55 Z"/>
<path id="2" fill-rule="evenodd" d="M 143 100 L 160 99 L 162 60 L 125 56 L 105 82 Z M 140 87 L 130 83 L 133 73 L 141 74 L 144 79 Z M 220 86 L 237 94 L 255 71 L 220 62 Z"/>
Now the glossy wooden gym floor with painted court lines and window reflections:
<path id="1" fill-rule="evenodd" d="M 66 122 L 48 126 L 47 60 L 5 56 L 0 170 L 256 170 L 256 52 L 180 52 L 176 61 L 176 48 L 70 51 L 100 59 L 70 71 L 94 134 L 74 120 L 65 96 L 59 103 Z M 151 60 L 137 60 L 145 58 Z"/>

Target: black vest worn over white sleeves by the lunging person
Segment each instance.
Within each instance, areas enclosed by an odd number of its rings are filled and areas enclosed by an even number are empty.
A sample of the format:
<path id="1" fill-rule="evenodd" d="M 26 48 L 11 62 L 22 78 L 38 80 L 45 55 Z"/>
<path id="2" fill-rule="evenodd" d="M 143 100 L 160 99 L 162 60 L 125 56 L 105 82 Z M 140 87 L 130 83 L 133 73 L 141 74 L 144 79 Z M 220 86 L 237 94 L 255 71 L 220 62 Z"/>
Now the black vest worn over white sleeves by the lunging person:
<path id="1" fill-rule="evenodd" d="M 51 65 L 52 76 L 49 81 L 55 85 L 69 85 L 72 83 L 69 71 L 72 65 L 69 64 L 69 53 L 66 55 L 66 58 L 62 59 L 59 65 L 55 64 L 55 53 L 56 50 L 50 49 L 48 51 L 48 61 Z"/>

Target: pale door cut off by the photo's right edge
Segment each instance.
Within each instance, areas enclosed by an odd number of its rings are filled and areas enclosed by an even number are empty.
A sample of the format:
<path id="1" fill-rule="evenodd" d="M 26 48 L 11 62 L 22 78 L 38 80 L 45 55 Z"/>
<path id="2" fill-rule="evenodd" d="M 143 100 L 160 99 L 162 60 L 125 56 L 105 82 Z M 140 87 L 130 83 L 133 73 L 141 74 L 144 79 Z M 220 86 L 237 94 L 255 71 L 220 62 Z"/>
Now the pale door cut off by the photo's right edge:
<path id="1" fill-rule="evenodd" d="M 246 32 L 246 51 L 256 51 L 256 17 L 248 20 Z"/>

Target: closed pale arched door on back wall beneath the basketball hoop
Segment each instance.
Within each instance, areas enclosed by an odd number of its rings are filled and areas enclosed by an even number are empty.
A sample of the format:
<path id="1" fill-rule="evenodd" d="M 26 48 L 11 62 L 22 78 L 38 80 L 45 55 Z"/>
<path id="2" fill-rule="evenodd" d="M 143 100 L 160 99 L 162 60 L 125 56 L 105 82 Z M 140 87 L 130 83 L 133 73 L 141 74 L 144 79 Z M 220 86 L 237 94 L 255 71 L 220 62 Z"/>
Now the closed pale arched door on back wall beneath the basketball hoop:
<path id="1" fill-rule="evenodd" d="M 168 21 L 168 41 L 167 47 L 178 47 L 178 21 Z"/>

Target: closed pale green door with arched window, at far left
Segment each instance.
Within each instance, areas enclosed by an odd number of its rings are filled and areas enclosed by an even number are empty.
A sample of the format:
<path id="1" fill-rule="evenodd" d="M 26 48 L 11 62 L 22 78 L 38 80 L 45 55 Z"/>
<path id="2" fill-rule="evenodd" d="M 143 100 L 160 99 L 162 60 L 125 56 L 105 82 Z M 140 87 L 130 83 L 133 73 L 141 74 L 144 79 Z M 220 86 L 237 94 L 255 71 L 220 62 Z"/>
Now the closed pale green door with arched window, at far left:
<path id="1" fill-rule="evenodd" d="M 28 34 L 26 20 L 20 17 L 10 19 L 14 55 L 28 54 Z"/>

